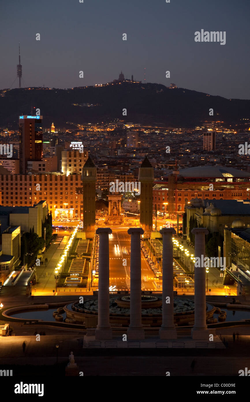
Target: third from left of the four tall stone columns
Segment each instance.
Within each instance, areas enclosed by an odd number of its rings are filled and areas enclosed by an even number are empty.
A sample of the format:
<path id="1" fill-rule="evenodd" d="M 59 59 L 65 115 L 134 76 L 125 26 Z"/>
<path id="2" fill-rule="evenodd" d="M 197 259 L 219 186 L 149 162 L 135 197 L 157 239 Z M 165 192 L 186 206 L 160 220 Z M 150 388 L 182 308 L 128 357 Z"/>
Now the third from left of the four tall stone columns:
<path id="1" fill-rule="evenodd" d="M 173 290 L 173 228 L 160 230 L 163 236 L 163 322 L 159 331 L 161 339 L 177 339 L 174 324 L 174 290 Z"/>

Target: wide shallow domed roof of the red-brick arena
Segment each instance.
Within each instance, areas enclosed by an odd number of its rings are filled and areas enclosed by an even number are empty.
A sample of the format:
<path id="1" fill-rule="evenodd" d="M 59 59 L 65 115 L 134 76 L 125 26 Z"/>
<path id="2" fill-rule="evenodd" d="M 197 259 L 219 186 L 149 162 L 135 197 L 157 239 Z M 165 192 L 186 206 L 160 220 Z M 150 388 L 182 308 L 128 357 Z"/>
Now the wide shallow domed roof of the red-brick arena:
<path id="1" fill-rule="evenodd" d="M 250 172 L 224 166 L 193 166 L 179 170 L 183 177 L 204 177 L 204 178 L 228 178 L 228 177 L 250 177 Z M 178 177 L 179 178 L 179 177 Z"/>

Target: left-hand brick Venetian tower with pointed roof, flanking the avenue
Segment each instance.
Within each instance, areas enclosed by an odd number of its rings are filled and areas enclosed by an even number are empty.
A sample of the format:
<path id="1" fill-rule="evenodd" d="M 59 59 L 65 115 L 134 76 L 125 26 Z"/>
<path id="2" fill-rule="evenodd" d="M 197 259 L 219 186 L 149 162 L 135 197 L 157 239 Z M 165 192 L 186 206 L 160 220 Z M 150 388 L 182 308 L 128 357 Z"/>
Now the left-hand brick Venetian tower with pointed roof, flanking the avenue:
<path id="1" fill-rule="evenodd" d="M 83 232 L 92 237 L 96 228 L 96 166 L 90 157 L 81 169 L 83 183 Z"/>

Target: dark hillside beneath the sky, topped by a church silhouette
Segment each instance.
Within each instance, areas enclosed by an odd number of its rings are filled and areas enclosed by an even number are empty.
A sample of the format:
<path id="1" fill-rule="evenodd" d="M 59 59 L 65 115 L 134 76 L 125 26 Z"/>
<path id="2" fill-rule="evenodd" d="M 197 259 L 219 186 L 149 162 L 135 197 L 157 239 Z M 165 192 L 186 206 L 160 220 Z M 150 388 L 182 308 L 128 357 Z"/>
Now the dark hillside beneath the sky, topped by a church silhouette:
<path id="1" fill-rule="evenodd" d="M 56 127 L 67 127 L 67 121 L 81 124 L 111 119 L 191 127 L 204 120 L 231 124 L 250 117 L 250 100 L 229 100 L 151 83 L 124 82 L 120 85 L 65 90 L 16 88 L 2 90 L 0 95 L 0 126 L 13 129 L 18 127 L 18 115 L 30 113 L 31 106 L 41 110 L 44 127 L 49 127 L 52 121 Z M 85 103 L 94 106 L 73 106 Z M 127 116 L 122 115 L 124 108 L 127 109 Z M 213 116 L 209 116 L 210 108 L 213 108 Z"/>

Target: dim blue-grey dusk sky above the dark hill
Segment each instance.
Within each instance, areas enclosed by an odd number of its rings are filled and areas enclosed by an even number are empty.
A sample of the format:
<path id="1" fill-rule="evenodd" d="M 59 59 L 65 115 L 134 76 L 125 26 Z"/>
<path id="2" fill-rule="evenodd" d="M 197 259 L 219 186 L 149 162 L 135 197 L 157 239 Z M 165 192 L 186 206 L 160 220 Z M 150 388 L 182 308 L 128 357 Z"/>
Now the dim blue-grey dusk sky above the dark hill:
<path id="1" fill-rule="evenodd" d="M 146 82 L 250 98 L 249 0 L 3 0 L 1 8 L 0 89 L 16 78 L 20 41 L 22 86 L 95 85 L 121 70 L 143 81 L 146 68 Z M 226 31 L 226 44 L 196 43 L 201 29 Z"/>

